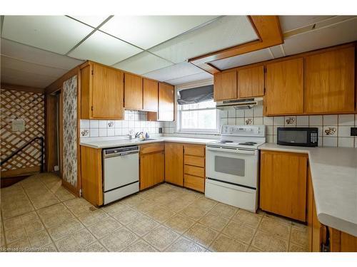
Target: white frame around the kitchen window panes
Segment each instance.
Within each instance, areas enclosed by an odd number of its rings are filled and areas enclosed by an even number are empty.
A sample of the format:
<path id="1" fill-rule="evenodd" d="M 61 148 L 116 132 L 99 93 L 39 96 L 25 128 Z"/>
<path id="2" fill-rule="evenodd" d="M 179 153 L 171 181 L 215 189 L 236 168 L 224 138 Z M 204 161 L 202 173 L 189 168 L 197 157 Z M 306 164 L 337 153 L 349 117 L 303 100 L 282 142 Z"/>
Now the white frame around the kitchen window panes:
<path id="1" fill-rule="evenodd" d="M 206 135 L 217 135 L 219 134 L 219 129 L 221 129 L 221 125 L 220 125 L 220 112 L 218 112 L 217 108 L 198 108 L 198 109 L 192 109 L 192 110 L 216 110 L 216 129 L 213 130 L 208 130 L 208 129 L 185 129 L 185 128 L 181 128 L 181 112 L 183 110 L 181 110 L 179 108 L 180 105 L 178 105 L 177 103 L 177 97 L 178 97 L 178 92 L 181 90 L 186 90 L 186 89 L 191 89 L 191 88 L 196 88 L 196 87 L 200 87 L 203 85 L 211 85 L 212 83 L 208 83 L 208 84 L 198 84 L 195 86 L 185 86 L 185 88 L 176 88 L 176 93 L 175 93 L 175 110 L 176 110 L 176 132 L 178 133 L 198 133 L 198 134 L 206 134 Z"/>

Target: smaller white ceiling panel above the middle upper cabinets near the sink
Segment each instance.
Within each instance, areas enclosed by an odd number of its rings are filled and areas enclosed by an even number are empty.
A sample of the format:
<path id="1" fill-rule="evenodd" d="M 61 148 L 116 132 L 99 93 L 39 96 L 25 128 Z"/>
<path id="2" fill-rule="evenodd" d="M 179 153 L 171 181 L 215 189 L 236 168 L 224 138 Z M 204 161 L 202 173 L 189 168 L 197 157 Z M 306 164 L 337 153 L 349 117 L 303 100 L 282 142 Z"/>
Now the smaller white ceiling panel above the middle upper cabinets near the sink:
<path id="1" fill-rule="evenodd" d="M 144 51 L 126 59 L 125 61 L 115 64 L 113 67 L 141 75 L 143 73 L 149 73 L 153 70 L 158 70 L 159 68 L 165 68 L 171 65 L 173 65 L 173 63 Z"/>

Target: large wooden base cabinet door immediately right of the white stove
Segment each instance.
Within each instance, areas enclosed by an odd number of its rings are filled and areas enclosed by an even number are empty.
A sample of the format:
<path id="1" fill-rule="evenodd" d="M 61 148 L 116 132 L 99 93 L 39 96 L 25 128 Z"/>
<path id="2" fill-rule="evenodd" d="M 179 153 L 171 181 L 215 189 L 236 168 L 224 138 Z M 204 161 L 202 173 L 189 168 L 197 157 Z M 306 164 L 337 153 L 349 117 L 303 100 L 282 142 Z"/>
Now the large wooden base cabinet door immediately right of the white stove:
<path id="1" fill-rule="evenodd" d="M 261 209 L 306 220 L 307 155 L 261 152 Z"/>

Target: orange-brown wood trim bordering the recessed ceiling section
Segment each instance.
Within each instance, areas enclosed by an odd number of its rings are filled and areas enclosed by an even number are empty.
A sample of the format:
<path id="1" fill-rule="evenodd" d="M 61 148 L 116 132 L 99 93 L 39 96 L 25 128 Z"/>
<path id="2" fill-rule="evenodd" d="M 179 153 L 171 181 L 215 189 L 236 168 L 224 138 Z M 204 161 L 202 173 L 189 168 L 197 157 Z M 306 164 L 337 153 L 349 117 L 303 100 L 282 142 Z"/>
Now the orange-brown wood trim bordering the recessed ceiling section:
<path id="1" fill-rule="evenodd" d="M 221 70 L 210 64 L 211 61 L 230 58 L 283 43 L 283 33 L 278 16 L 248 16 L 248 19 L 258 35 L 258 40 L 191 58 L 188 62 L 206 70 L 208 73 L 214 74 L 221 72 Z"/>

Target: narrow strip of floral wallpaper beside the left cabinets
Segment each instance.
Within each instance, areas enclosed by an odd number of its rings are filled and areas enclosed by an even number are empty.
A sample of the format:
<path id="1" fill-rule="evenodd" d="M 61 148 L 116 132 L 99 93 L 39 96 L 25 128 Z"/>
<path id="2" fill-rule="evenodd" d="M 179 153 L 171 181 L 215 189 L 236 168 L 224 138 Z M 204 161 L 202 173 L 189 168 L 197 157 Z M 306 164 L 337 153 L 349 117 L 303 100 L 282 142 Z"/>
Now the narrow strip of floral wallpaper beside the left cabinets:
<path id="1" fill-rule="evenodd" d="M 63 85 L 63 179 L 77 187 L 77 76 Z"/>

